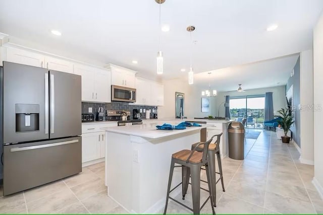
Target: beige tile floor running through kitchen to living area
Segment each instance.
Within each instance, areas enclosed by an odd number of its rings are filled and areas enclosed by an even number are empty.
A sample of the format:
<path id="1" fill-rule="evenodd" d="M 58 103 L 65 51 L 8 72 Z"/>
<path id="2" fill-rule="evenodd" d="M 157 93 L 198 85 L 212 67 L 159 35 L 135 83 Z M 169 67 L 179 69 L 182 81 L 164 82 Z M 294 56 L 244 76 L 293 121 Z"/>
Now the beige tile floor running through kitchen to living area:
<path id="1" fill-rule="evenodd" d="M 254 140 L 247 141 L 252 145 Z M 261 132 L 245 160 L 223 160 L 226 192 L 219 183 L 216 212 L 323 213 L 323 200 L 311 183 L 313 166 L 298 158 L 297 149 L 282 144 L 275 132 Z M 107 196 L 103 179 L 104 163 L 85 167 L 78 175 L 0 197 L 0 213 L 127 213 Z M 183 201 L 181 194 L 173 197 Z M 201 191 L 201 201 L 206 197 Z M 184 202 L 192 206 L 190 188 Z M 170 201 L 167 213 L 191 211 Z M 201 213 L 211 213 L 209 202 Z"/>

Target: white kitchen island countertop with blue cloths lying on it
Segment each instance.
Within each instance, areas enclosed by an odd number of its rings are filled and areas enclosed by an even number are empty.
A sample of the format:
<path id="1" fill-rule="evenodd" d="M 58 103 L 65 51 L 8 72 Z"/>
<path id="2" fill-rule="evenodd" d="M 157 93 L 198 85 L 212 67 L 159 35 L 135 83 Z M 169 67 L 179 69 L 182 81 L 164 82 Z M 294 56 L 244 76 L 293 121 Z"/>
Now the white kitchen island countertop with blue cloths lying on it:
<path id="1" fill-rule="evenodd" d="M 163 120 L 164 121 L 164 120 Z M 163 123 L 164 124 L 164 123 Z M 157 130 L 156 125 L 162 125 L 160 123 L 149 123 L 149 124 L 141 124 L 141 125 L 129 125 L 129 126 L 118 126 L 118 127 L 103 127 L 102 130 L 129 134 L 134 136 L 148 137 L 148 138 L 160 138 L 165 136 L 171 136 L 175 134 L 185 133 L 193 130 L 200 130 L 202 128 L 206 128 L 212 125 L 202 124 L 202 126 L 192 126 L 186 127 L 183 130 Z M 175 125 L 175 124 L 173 124 Z"/>

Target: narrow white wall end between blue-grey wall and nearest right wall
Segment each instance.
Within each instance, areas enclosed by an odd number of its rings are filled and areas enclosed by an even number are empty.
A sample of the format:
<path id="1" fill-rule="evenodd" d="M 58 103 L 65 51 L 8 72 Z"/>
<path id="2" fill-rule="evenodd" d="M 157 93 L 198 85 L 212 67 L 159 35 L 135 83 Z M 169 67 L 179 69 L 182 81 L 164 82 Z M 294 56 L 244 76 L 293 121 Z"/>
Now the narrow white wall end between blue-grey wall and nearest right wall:
<path id="1" fill-rule="evenodd" d="M 301 158 L 305 164 L 314 164 L 313 151 L 313 50 L 300 53 L 300 110 Z"/>

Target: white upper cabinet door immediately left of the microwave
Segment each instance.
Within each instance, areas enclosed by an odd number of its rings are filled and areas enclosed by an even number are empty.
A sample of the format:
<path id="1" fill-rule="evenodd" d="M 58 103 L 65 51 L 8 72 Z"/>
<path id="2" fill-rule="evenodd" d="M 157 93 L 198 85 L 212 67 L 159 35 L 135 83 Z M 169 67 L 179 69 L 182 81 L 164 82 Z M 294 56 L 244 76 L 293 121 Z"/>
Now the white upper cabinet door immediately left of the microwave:
<path id="1" fill-rule="evenodd" d="M 94 73 L 95 101 L 111 102 L 111 73 L 108 70 L 96 69 Z"/>

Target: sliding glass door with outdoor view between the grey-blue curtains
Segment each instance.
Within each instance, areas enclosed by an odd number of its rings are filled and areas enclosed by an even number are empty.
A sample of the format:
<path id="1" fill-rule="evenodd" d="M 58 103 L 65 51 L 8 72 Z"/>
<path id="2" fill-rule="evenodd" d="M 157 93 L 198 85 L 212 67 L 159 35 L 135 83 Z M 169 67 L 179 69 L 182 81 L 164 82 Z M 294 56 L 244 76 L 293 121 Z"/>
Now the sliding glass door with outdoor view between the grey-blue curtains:
<path id="1" fill-rule="evenodd" d="M 246 127 L 263 128 L 264 95 L 230 97 L 231 119 L 242 122 L 247 119 Z"/>

